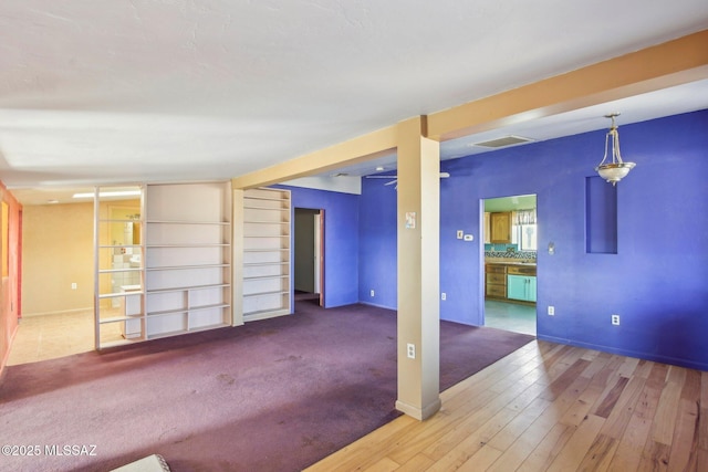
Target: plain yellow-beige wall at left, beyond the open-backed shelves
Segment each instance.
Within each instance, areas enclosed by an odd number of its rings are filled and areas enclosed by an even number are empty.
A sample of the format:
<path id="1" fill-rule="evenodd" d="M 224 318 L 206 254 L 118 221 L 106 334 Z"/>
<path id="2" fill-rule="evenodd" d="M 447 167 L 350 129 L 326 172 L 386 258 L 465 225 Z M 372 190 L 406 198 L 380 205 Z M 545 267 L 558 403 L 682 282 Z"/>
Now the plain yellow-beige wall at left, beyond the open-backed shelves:
<path id="1" fill-rule="evenodd" d="M 22 315 L 91 310 L 93 202 L 28 206 L 22 218 Z"/>

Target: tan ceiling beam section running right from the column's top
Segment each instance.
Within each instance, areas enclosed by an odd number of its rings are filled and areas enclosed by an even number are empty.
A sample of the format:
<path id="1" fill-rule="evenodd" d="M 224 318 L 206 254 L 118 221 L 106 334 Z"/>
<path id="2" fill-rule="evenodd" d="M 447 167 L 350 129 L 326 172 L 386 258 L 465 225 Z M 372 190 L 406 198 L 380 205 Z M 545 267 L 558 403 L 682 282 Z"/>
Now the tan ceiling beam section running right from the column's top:
<path id="1" fill-rule="evenodd" d="M 448 140 L 708 77 L 708 30 L 428 115 Z"/>

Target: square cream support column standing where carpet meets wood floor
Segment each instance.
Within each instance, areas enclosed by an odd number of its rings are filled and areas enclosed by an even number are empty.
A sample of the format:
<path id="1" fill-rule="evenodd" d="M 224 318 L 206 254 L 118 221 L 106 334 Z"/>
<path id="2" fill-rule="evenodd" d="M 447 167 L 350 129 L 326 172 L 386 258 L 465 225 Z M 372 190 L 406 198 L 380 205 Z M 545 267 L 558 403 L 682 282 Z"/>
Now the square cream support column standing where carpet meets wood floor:
<path id="1" fill-rule="evenodd" d="M 440 147 L 425 117 L 398 125 L 398 399 L 425 420 L 440 408 Z"/>

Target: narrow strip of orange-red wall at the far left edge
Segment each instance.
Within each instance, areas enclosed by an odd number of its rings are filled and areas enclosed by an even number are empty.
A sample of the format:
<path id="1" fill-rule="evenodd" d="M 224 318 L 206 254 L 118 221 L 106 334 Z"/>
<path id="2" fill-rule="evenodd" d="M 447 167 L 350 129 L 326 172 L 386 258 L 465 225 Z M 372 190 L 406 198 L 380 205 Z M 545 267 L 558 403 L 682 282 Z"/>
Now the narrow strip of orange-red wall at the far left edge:
<path id="1" fill-rule="evenodd" d="M 0 292 L 0 374 L 10 354 L 12 337 L 18 327 L 20 315 L 20 254 L 22 207 L 2 182 L 0 182 L 0 200 L 2 201 L 2 286 Z M 7 265 L 6 265 L 7 264 Z"/>

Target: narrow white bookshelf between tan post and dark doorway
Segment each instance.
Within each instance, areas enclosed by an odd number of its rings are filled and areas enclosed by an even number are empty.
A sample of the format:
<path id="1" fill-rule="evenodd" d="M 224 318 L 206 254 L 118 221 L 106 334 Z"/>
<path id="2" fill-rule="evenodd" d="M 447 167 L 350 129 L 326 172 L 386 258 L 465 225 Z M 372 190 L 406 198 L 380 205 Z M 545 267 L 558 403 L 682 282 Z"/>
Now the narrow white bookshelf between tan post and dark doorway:
<path id="1" fill-rule="evenodd" d="M 238 241 L 241 259 L 237 276 L 241 280 L 238 313 L 242 322 L 289 315 L 290 275 L 290 191 L 258 188 L 242 191 L 239 202 Z"/>

